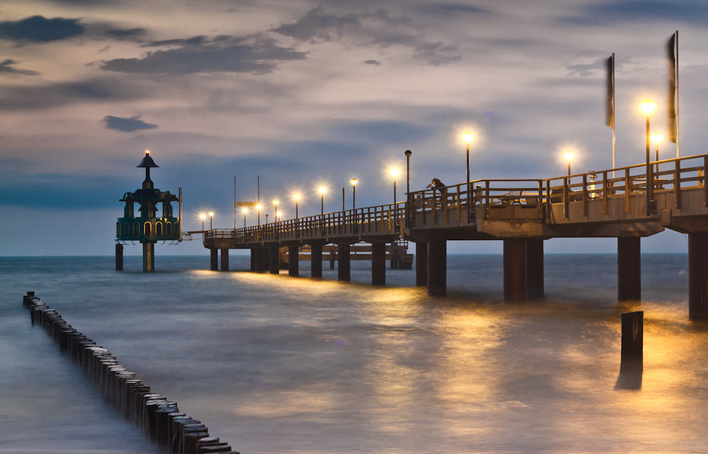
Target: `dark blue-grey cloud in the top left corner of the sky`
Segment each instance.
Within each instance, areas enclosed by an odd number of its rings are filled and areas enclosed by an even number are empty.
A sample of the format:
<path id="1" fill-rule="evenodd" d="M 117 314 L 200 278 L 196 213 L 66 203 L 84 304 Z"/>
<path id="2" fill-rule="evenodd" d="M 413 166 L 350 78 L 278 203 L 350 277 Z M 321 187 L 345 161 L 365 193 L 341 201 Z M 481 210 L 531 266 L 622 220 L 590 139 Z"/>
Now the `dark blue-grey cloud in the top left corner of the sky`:
<path id="1" fill-rule="evenodd" d="M 84 33 L 79 19 L 32 16 L 21 21 L 0 22 L 0 38 L 15 42 L 50 42 Z"/>

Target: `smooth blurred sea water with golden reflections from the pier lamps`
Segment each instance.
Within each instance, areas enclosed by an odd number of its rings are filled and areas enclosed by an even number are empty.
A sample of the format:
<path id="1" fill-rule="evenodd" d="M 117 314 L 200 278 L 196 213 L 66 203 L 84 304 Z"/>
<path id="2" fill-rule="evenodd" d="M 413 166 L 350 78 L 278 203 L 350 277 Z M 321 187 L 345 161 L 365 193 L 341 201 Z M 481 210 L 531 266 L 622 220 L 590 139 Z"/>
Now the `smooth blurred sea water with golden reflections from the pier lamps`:
<path id="1" fill-rule="evenodd" d="M 546 296 L 503 302 L 502 260 L 448 256 L 448 297 L 367 262 L 352 283 L 208 271 L 206 256 L 0 258 L 0 453 L 156 453 L 21 305 L 28 290 L 241 453 L 706 453 L 708 330 L 687 256 L 547 255 Z M 301 276 L 309 276 L 302 262 Z M 644 310 L 640 390 L 615 387 L 620 314 Z"/>

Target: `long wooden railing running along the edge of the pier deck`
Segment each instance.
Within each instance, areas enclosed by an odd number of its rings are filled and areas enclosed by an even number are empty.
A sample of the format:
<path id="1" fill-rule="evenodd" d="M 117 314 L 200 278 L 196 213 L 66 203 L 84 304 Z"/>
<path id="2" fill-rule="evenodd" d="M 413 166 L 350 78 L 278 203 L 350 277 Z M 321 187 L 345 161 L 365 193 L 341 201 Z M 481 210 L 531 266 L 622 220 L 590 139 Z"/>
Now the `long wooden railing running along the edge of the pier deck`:
<path id="1" fill-rule="evenodd" d="M 582 213 L 587 217 L 588 203 L 602 200 L 603 214 L 607 216 L 610 215 L 608 205 L 617 203 L 616 199 L 624 199 L 624 212 L 629 214 L 630 200 L 644 195 L 647 211 L 632 214 L 639 217 L 656 214 L 653 211 L 656 195 L 673 193 L 675 208 L 681 208 L 682 192 L 696 188 L 703 189 L 703 205 L 708 208 L 707 173 L 708 154 L 702 154 L 554 178 L 482 179 L 470 181 L 469 189 L 467 183 L 458 183 L 442 190 L 413 191 L 407 194 L 407 203 L 329 212 L 240 229 L 212 229 L 205 233 L 204 239 L 205 244 L 232 239 L 236 245 L 246 245 L 302 239 L 330 242 L 337 237 L 387 237 L 410 228 L 474 225 L 477 217 L 500 219 L 506 213 L 514 217 L 518 211 L 523 211 L 523 219 L 556 222 L 549 208 L 557 204 L 563 205 L 563 217 L 568 218 L 570 204 L 581 202 Z"/>

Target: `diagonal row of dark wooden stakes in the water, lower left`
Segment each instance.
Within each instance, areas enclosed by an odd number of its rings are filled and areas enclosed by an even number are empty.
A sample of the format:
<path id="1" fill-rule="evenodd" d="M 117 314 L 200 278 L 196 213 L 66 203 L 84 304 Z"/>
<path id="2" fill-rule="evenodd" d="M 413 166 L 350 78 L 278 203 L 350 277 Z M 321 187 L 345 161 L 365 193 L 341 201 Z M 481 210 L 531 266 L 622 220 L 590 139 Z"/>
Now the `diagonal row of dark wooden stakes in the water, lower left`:
<path id="1" fill-rule="evenodd" d="M 34 292 L 23 297 L 30 311 L 32 325 L 44 327 L 59 344 L 59 350 L 84 372 L 106 402 L 131 421 L 162 452 L 172 454 L 238 454 L 229 443 L 209 435 L 202 421 L 180 412 L 177 402 L 151 392 L 111 356 L 107 348 L 96 345 L 72 328 L 56 310 L 51 309 Z"/>

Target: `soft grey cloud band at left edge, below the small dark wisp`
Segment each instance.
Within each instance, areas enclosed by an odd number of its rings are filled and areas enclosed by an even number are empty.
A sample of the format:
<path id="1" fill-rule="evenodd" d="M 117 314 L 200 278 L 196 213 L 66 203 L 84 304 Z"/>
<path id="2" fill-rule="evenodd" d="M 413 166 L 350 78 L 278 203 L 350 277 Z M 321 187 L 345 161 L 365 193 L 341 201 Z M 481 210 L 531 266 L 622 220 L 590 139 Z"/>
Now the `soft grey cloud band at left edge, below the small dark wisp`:
<path id="1" fill-rule="evenodd" d="M 90 79 L 42 86 L 0 86 L 0 108 L 31 110 L 86 101 L 126 101 L 143 96 L 142 89 L 118 80 Z"/>

